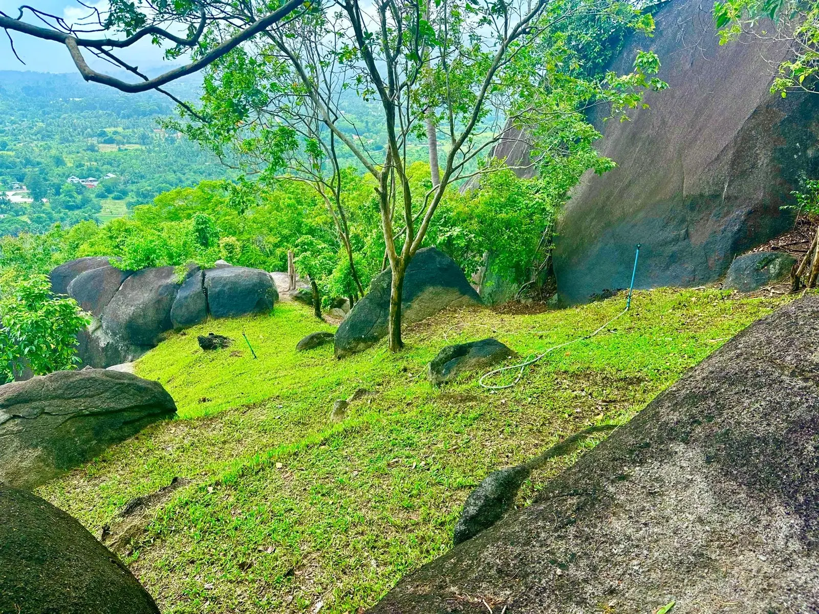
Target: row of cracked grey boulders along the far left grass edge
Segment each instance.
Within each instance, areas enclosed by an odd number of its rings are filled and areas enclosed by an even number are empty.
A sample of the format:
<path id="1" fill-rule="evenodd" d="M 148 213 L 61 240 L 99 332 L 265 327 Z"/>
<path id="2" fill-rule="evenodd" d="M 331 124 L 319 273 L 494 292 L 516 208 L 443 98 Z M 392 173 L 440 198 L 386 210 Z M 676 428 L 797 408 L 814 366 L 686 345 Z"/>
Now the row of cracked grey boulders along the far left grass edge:
<path id="1" fill-rule="evenodd" d="M 204 322 L 273 309 L 278 293 L 268 273 L 226 266 L 120 271 L 107 258 L 80 258 L 51 273 L 52 291 L 72 296 L 93 314 L 77 336 L 84 364 L 106 368 L 145 354 L 163 333 Z"/>

